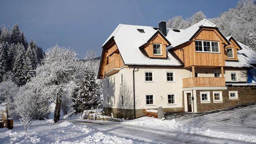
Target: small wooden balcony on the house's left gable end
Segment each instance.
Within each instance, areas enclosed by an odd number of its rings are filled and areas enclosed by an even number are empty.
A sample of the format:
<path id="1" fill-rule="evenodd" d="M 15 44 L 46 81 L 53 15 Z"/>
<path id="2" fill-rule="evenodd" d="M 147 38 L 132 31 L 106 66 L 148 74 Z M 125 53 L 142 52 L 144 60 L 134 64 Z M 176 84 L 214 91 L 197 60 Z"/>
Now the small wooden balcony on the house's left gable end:
<path id="1" fill-rule="evenodd" d="M 124 63 L 123 63 L 122 59 L 116 59 L 116 60 L 110 62 L 109 64 L 107 64 L 105 66 L 105 69 L 104 69 L 105 74 L 104 75 L 107 76 L 107 75 L 113 75 L 113 74 L 118 73 L 120 70 L 119 68 L 122 67 L 123 65 L 124 65 Z"/>

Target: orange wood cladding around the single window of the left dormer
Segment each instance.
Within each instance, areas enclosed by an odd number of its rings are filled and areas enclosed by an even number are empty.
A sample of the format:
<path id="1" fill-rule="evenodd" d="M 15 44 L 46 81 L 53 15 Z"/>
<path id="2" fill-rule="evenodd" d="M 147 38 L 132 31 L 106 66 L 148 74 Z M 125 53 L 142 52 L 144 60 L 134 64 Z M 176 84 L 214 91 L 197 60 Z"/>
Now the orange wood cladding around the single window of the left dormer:
<path id="1" fill-rule="evenodd" d="M 161 55 L 154 55 L 153 54 L 153 44 L 161 44 L 161 50 L 162 54 Z M 147 52 L 149 57 L 156 57 L 156 58 L 166 58 L 166 44 L 167 41 L 165 41 L 164 38 L 160 34 L 157 34 L 152 41 L 150 41 L 148 44 L 145 44 L 144 49 Z"/>

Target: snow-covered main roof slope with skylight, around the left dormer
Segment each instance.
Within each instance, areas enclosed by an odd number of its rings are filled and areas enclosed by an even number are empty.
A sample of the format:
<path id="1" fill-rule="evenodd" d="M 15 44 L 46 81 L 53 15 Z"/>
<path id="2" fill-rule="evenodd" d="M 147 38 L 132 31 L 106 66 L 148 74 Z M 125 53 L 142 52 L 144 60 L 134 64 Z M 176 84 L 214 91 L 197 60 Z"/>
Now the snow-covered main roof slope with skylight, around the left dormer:
<path id="1" fill-rule="evenodd" d="M 145 33 L 140 33 L 137 29 L 144 29 Z M 167 52 L 166 59 L 149 58 L 141 52 L 139 46 L 148 41 L 158 29 L 150 26 L 123 25 L 117 26 L 115 31 L 108 37 L 103 46 L 114 38 L 120 51 L 123 61 L 127 65 L 182 65 L 174 56 Z"/>

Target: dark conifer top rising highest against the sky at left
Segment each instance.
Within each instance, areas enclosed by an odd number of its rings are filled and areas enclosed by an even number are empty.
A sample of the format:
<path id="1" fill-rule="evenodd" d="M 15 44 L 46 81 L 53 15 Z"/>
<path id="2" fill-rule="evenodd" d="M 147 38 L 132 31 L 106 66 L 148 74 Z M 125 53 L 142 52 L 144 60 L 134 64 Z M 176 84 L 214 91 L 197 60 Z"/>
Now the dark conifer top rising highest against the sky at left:
<path id="1" fill-rule="evenodd" d="M 18 23 L 11 29 L 10 43 L 22 43 L 22 35 Z"/>

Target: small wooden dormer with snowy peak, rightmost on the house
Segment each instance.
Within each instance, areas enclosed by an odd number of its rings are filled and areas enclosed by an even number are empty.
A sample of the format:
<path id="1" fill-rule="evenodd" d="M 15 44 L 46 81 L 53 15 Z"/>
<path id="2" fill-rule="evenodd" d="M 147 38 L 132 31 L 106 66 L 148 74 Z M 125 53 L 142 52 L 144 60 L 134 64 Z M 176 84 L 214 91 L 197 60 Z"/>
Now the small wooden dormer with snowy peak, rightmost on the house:
<path id="1" fill-rule="evenodd" d="M 225 60 L 238 61 L 237 51 L 242 47 L 236 42 L 233 36 L 227 37 L 230 44 L 225 46 Z"/>

